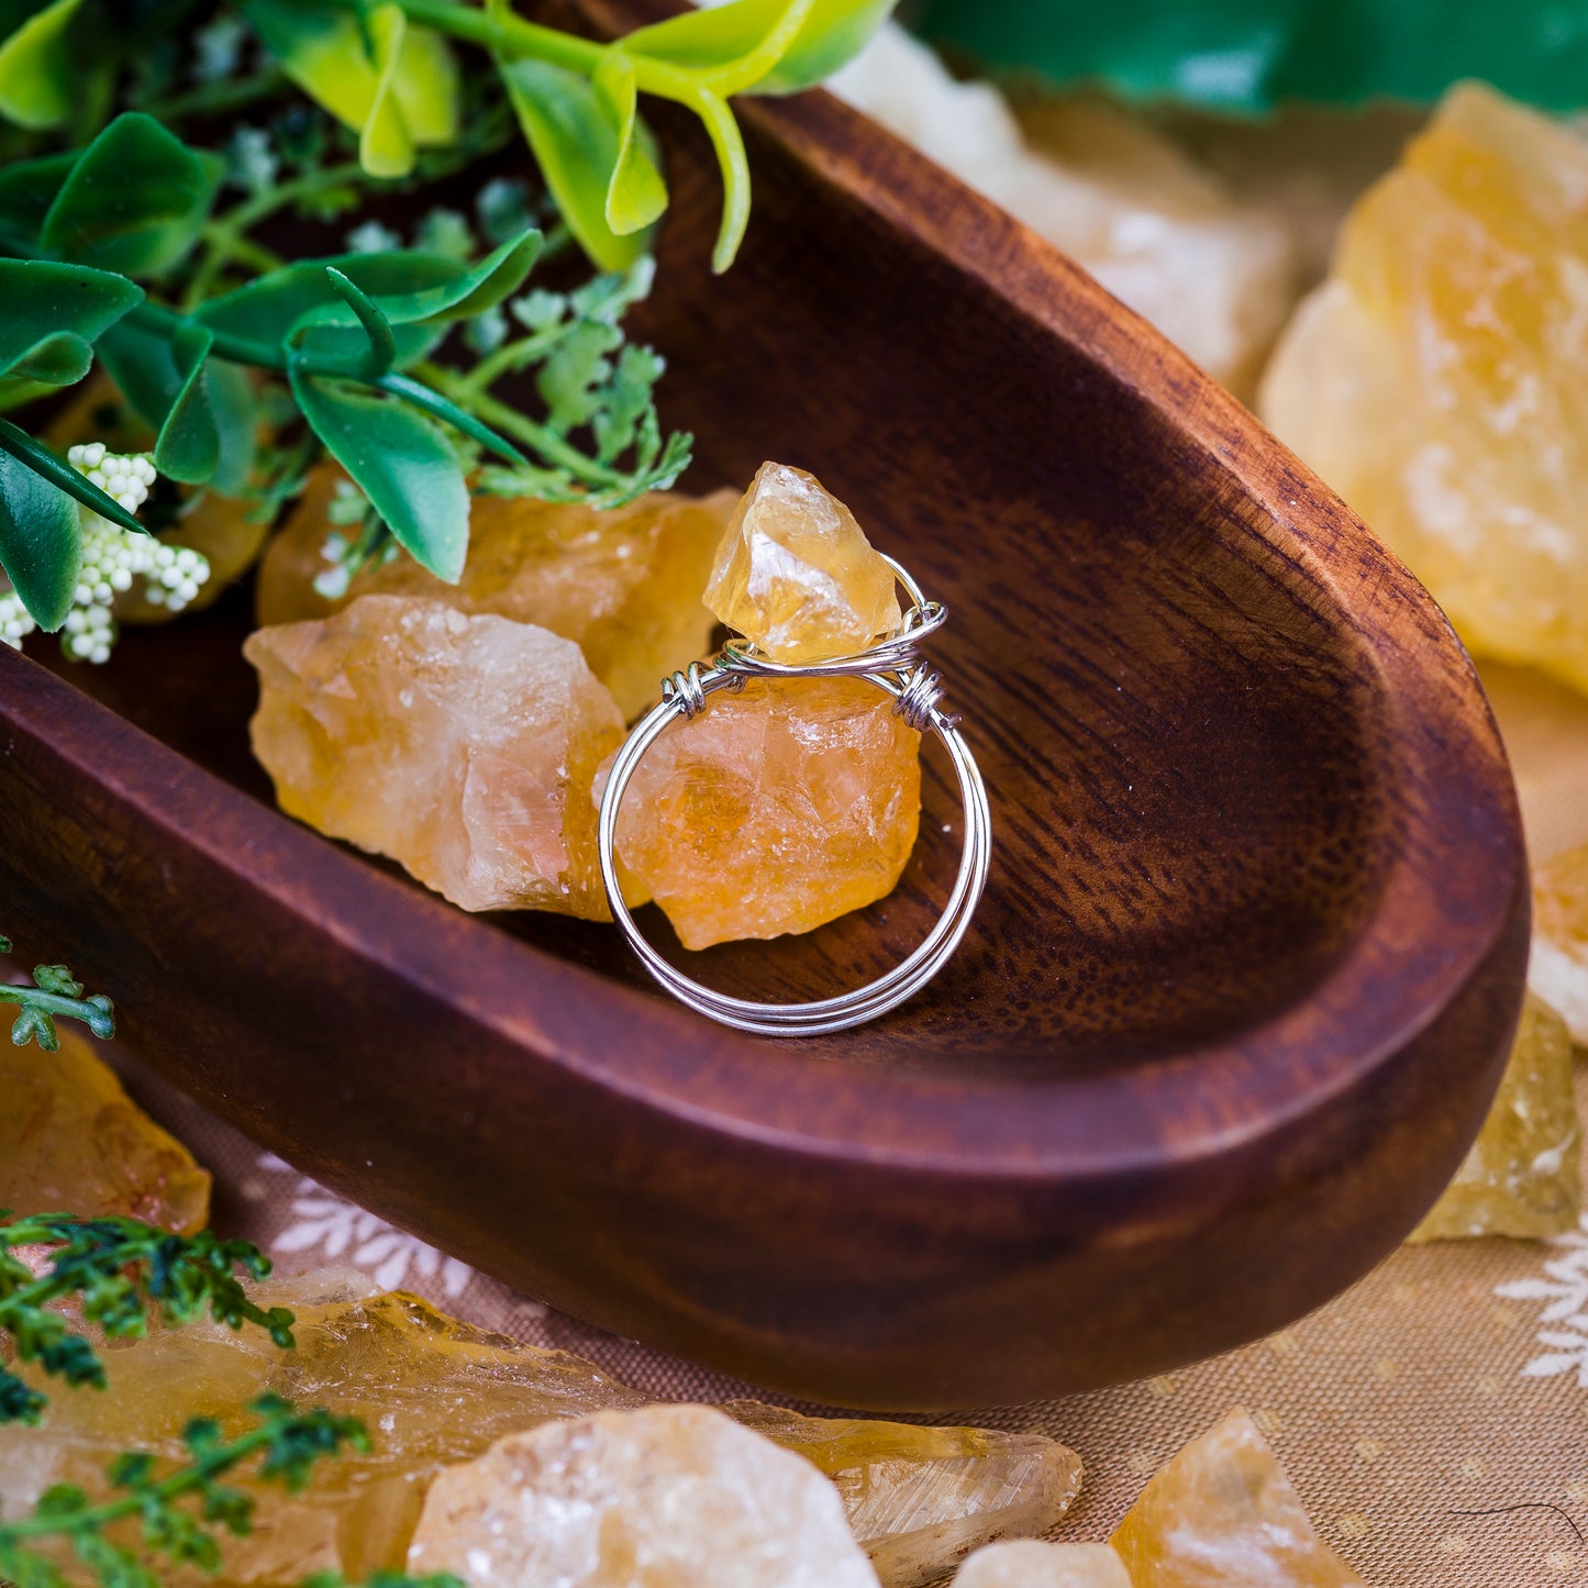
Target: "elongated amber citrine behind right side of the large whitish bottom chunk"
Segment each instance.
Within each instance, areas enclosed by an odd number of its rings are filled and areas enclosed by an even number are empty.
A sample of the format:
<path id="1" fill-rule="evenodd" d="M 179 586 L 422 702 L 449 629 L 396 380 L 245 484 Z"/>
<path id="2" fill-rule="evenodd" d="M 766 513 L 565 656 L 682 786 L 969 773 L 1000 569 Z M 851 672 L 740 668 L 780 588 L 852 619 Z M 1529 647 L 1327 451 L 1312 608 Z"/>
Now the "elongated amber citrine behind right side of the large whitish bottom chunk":
<path id="1" fill-rule="evenodd" d="M 921 1588 L 988 1539 L 1046 1532 L 1081 1486 L 1080 1456 L 1040 1434 L 800 1416 L 756 1401 L 723 1410 L 832 1478 L 889 1588 Z"/>

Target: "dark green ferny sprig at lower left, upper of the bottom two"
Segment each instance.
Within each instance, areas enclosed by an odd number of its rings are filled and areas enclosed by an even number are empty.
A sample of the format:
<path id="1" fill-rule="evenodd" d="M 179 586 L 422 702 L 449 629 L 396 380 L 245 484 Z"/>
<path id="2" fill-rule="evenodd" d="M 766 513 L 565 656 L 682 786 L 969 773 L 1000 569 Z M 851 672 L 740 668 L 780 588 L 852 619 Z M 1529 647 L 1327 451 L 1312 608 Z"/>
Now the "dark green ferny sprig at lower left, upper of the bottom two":
<path id="1" fill-rule="evenodd" d="M 14 1256 L 21 1247 L 52 1248 L 43 1272 Z M 249 1301 L 238 1269 L 264 1278 L 270 1259 L 246 1240 L 208 1231 L 178 1235 L 135 1218 L 0 1213 L 0 1339 L 10 1339 L 16 1361 L 38 1363 L 68 1386 L 98 1390 L 105 1364 L 57 1302 L 76 1301 L 83 1318 L 110 1339 L 141 1337 L 151 1310 L 168 1326 L 208 1312 L 232 1329 L 257 1324 L 276 1345 L 291 1347 L 292 1313 Z M 0 1367 L 0 1423 L 37 1423 L 46 1404 L 38 1390 Z"/>

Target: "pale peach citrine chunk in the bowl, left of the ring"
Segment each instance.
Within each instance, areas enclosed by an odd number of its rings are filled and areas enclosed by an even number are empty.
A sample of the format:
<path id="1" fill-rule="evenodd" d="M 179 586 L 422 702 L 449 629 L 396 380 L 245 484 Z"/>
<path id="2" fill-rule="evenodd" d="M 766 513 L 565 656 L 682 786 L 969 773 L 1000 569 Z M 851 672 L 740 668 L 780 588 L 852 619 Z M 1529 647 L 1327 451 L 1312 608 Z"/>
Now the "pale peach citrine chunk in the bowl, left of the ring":
<path id="1" fill-rule="evenodd" d="M 281 808 L 465 910 L 605 919 L 591 780 L 611 692 L 546 629 L 410 596 L 259 629 L 254 754 Z"/>

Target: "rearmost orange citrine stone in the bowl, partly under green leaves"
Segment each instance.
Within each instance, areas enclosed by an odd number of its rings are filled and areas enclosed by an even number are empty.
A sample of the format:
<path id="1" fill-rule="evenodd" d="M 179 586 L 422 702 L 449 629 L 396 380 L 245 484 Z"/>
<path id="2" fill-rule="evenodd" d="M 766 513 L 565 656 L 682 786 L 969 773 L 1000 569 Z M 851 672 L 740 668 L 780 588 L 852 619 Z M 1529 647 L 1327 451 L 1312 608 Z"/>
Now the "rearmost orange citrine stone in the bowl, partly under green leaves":
<path id="1" fill-rule="evenodd" d="M 651 492 L 607 511 L 476 495 L 457 584 L 443 584 L 413 557 L 399 556 L 367 569 L 346 596 L 329 600 L 314 591 L 314 580 L 330 570 L 321 548 L 335 529 L 327 513 L 341 480 L 329 465 L 310 475 L 272 540 L 259 569 L 262 624 L 326 618 L 370 594 L 429 596 L 461 611 L 494 611 L 573 640 L 624 718 L 638 716 L 657 699 L 662 678 L 710 648 L 713 622 L 700 594 L 734 508 L 730 491 Z"/>

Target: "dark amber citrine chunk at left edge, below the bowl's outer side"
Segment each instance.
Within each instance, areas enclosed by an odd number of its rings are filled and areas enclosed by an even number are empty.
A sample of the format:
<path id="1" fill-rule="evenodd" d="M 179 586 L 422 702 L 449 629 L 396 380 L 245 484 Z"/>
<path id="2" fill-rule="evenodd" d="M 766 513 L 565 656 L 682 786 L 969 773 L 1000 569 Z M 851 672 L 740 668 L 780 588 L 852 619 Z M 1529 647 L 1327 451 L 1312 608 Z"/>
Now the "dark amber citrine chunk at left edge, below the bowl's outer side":
<path id="1" fill-rule="evenodd" d="M 89 1039 L 59 1029 L 57 1053 L 0 1043 L 0 1208 L 203 1229 L 210 1175 L 127 1097 Z"/>

